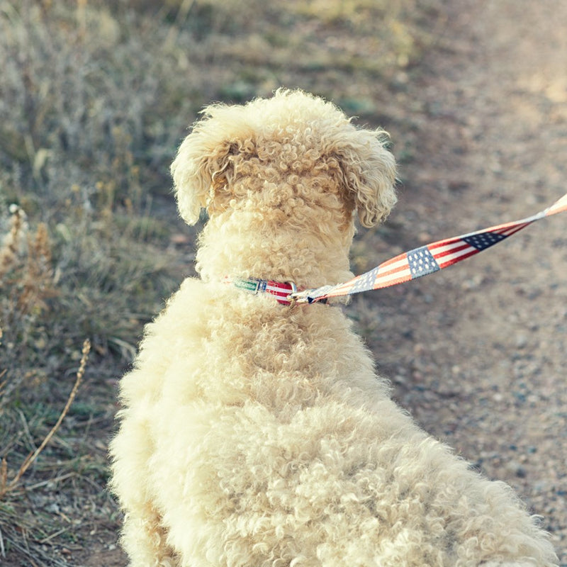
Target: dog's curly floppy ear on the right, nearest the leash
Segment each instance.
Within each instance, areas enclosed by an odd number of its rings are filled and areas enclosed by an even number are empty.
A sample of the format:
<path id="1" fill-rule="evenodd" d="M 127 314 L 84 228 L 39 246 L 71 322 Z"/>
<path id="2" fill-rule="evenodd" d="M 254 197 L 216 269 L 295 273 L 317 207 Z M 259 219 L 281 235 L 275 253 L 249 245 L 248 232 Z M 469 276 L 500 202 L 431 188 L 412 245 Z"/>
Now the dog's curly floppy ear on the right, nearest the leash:
<path id="1" fill-rule="evenodd" d="M 387 142 L 384 130 L 352 127 L 337 147 L 342 181 L 365 227 L 385 220 L 397 200 L 395 159 L 386 150 Z"/>

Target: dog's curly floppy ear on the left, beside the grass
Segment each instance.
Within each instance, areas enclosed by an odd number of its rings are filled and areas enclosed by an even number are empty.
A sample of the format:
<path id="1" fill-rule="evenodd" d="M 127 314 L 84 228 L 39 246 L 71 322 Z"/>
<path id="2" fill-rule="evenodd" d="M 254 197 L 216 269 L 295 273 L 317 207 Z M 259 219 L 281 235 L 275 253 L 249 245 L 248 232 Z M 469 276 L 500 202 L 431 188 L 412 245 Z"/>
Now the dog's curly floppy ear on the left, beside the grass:
<path id="1" fill-rule="evenodd" d="M 199 220 L 201 209 L 210 208 L 215 194 L 230 182 L 235 144 L 228 140 L 209 113 L 193 125 L 179 146 L 172 176 L 179 214 L 189 225 Z"/>

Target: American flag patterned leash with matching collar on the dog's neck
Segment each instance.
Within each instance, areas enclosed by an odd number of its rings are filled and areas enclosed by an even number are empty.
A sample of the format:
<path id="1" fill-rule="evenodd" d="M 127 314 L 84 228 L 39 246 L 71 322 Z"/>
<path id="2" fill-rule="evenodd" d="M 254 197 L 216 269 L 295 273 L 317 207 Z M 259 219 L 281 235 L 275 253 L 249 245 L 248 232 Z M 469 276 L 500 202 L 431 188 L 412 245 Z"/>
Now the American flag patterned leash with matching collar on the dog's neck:
<path id="1" fill-rule="evenodd" d="M 562 213 L 565 210 L 567 210 L 567 193 L 553 205 L 535 215 L 414 248 L 386 260 L 360 276 L 335 286 L 321 286 L 298 291 L 293 282 L 282 283 L 255 278 L 236 278 L 226 281 L 252 293 L 270 293 L 276 296 L 277 301 L 282 305 L 310 304 L 333 297 L 351 296 L 354 293 L 395 286 L 398 283 L 433 274 L 470 258 L 478 252 L 483 252 L 519 232 L 522 228 L 535 223 L 536 220 Z"/>

